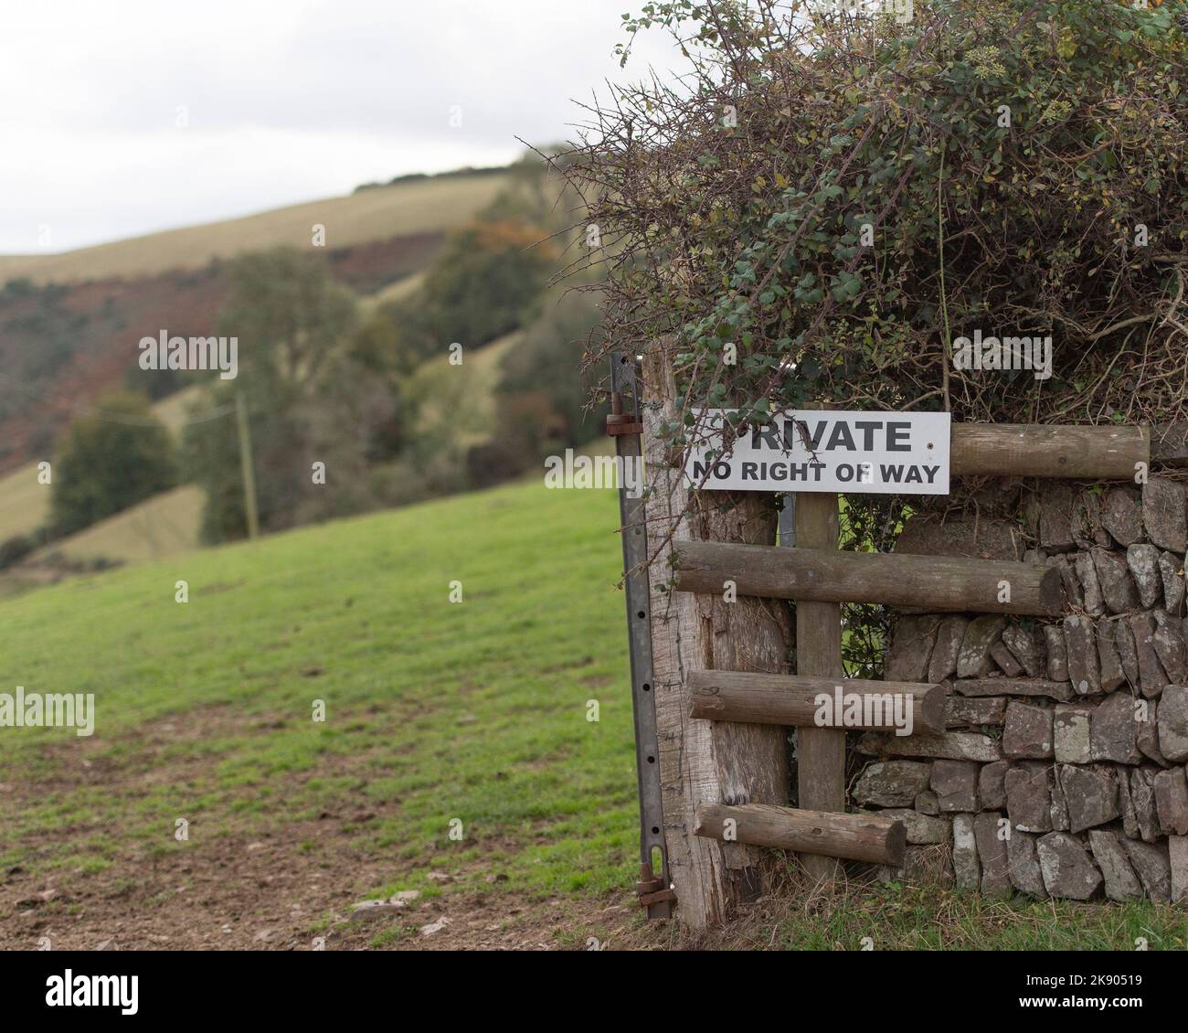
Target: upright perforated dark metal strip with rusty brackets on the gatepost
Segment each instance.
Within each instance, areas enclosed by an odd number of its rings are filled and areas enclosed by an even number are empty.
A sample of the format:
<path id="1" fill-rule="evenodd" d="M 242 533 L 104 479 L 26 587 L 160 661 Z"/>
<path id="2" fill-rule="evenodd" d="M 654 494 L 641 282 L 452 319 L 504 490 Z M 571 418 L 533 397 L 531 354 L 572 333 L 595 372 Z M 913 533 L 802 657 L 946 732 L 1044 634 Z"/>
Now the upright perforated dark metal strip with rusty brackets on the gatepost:
<path id="1" fill-rule="evenodd" d="M 630 408 L 624 396 L 630 393 Z M 627 493 L 627 464 L 643 464 L 644 424 L 639 415 L 639 371 L 626 353 L 611 357 L 611 415 L 607 433 L 619 458 L 619 519 L 627 601 L 627 643 L 631 654 L 631 708 L 636 723 L 636 776 L 639 783 L 639 882 L 636 892 L 649 918 L 669 918 L 676 894 L 664 846 L 664 806 L 652 678 L 651 593 L 647 582 L 647 514 L 644 493 Z M 639 479 L 636 479 L 639 483 Z M 661 870 L 652 857 L 659 851 Z"/>

